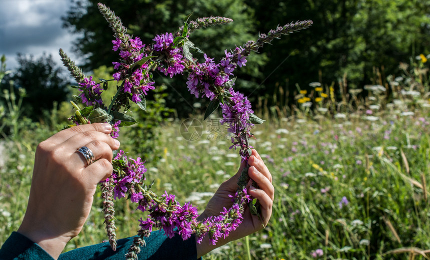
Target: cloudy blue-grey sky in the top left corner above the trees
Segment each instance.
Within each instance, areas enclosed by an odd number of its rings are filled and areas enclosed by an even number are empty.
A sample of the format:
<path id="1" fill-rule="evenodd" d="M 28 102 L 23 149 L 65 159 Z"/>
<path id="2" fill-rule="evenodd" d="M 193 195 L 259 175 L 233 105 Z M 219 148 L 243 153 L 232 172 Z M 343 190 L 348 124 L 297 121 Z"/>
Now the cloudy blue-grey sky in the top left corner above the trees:
<path id="1" fill-rule="evenodd" d="M 6 68 L 17 67 L 16 53 L 40 57 L 52 54 L 58 66 L 62 48 L 72 59 L 71 51 L 77 35 L 62 28 L 61 16 L 69 9 L 70 0 L 0 0 L 0 56 L 6 56 Z"/>

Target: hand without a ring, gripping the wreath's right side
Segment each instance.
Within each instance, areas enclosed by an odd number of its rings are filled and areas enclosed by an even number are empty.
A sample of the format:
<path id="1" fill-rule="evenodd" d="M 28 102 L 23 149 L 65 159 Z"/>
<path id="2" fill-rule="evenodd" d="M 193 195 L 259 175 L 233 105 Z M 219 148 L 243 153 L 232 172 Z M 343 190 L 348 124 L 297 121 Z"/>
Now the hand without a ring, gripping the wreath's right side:
<path id="1" fill-rule="evenodd" d="M 263 217 L 262 223 L 258 219 L 258 216 L 252 215 L 249 212 L 249 208 L 245 207 L 242 223 L 236 228 L 236 230 L 230 232 L 230 235 L 226 239 L 219 239 L 216 245 L 213 246 L 209 243 L 208 238 L 205 237 L 200 244 L 196 244 L 197 257 L 201 257 L 230 241 L 246 237 L 247 235 L 262 229 L 262 225 L 267 225 L 271 216 L 274 198 L 274 188 L 271 184 L 272 178 L 261 157 L 258 155 L 257 151 L 253 149 L 252 155 L 248 159 L 248 164 L 248 176 L 251 180 L 256 182 L 258 189 L 252 187 L 252 181 L 250 181 L 247 186 L 247 191 L 251 197 L 256 198 L 260 203 L 261 216 Z M 236 189 L 238 188 L 237 179 L 244 167 L 245 163 L 243 162 L 237 173 L 219 186 L 215 195 L 213 195 L 209 200 L 204 212 L 197 218 L 197 220 L 201 221 L 210 216 L 217 216 L 223 210 L 223 207 L 228 209 L 232 206 L 231 198 L 228 197 L 228 195 L 235 194 Z"/>

